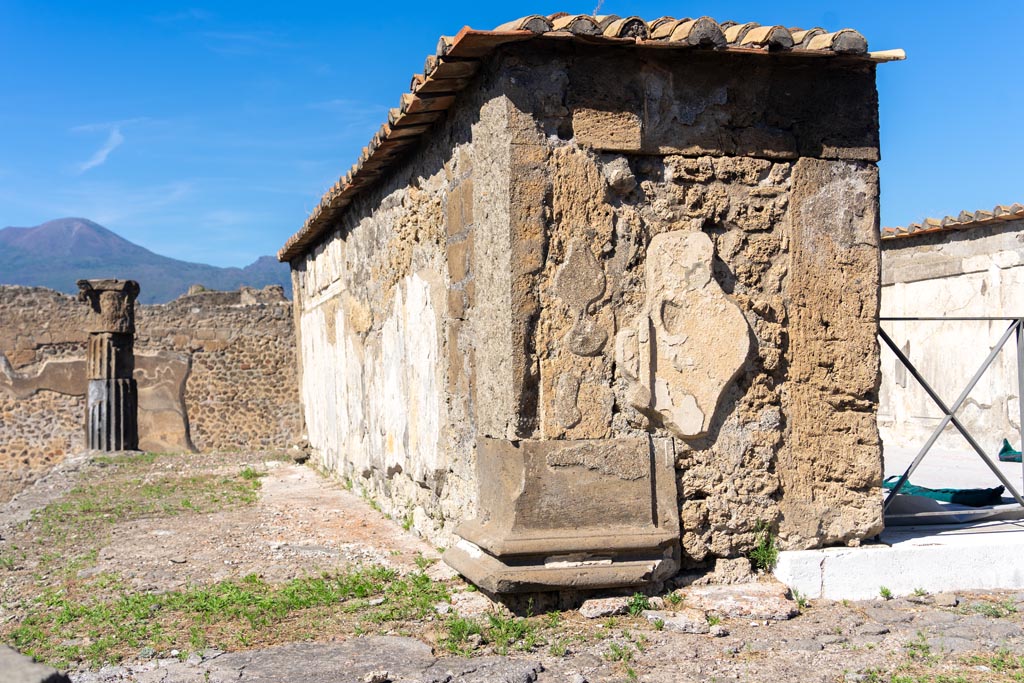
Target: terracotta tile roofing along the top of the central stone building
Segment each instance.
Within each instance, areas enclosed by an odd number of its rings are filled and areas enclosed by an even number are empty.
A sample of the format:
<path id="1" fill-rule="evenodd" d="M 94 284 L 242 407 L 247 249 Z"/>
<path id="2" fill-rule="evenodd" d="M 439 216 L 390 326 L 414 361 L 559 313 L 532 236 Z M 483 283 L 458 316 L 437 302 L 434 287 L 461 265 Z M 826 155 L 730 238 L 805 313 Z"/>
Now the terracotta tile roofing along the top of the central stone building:
<path id="1" fill-rule="evenodd" d="M 522 16 L 494 31 L 474 31 L 467 27 L 455 36 L 441 36 L 435 54 L 426 58 L 423 73 L 413 76 L 411 91 L 401 95 L 398 106 L 386 113 L 387 123 L 364 147 L 355 165 L 325 193 L 319 205 L 302 228 L 288 240 L 278 258 L 287 261 L 305 253 L 330 228 L 353 196 L 371 185 L 415 146 L 431 124 L 453 104 L 456 93 L 469 85 L 481 57 L 506 43 L 527 40 L 575 40 L 589 45 L 712 49 L 748 54 L 852 55 L 872 61 L 891 61 L 904 56 L 902 50 L 868 52 L 864 37 L 850 29 L 826 33 L 823 29 L 785 29 L 753 23 L 719 24 L 709 16 L 662 16 L 645 22 L 638 16 L 559 12 L 548 16 Z"/>

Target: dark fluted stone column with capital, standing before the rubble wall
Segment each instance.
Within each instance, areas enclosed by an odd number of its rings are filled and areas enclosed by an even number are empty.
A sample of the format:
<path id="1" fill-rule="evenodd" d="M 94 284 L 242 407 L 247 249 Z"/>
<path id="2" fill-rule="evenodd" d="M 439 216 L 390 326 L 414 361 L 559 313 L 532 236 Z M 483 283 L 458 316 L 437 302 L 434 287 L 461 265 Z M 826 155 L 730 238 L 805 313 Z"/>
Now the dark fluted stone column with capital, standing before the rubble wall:
<path id="1" fill-rule="evenodd" d="M 90 307 L 86 373 L 86 442 L 96 451 L 138 449 L 138 388 L 135 370 L 133 280 L 80 280 L 79 300 Z"/>

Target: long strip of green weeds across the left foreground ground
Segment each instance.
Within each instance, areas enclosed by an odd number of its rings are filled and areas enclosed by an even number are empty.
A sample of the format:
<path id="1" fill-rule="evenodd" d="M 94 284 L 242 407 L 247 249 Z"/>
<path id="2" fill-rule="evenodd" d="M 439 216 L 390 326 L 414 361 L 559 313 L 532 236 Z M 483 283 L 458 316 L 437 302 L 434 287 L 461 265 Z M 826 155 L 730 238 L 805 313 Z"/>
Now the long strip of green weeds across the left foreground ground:
<path id="1" fill-rule="evenodd" d="M 384 601 L 370 606 L 372 597 Z M 249 574 L 161 594 L 131 593 L 120 577 L 104 574 L 44 590 L 24 618 L 0 630 L 0 637 L 53 666 L 77 659 L 97 666 L 142 647 L 239 649 L 269 638 L 302 614 L 358 611 L 377 623 L 423 618 L 447 599 L 446 588 L 422 573 L 399 575 L 376 565 L 282 585 Z M 68 644 L 83 635 L 91 640 L 88 646 Z"/>

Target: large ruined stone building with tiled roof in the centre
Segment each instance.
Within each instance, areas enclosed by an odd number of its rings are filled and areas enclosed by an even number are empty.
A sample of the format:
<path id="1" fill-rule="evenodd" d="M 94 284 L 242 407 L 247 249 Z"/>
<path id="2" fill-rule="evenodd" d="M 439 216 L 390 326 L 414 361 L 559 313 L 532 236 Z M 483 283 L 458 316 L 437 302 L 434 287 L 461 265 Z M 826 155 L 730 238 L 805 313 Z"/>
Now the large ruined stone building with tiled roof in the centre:
<path id="1" fill-rule="evenodd" d="M 708 17 L 442 37 L 279 254 L 314 457 L 498 592 L 876 535 L 900 56 Z"/>

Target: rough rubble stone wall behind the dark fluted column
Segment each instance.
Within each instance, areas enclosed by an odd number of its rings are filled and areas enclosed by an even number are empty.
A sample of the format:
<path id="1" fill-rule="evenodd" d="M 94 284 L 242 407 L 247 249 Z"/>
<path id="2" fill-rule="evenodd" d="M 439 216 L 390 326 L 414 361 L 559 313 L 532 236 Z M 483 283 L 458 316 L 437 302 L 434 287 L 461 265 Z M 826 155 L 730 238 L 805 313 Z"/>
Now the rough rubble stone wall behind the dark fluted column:
<path id="1" fill-rule="evenodd" d="M 52 290 L 0 287 L 0 500 L 85 447 L 86 311 Z M 140 447 L 270 450 L 301 438 L 291 315 L 272 288 L 136 306 Z"/>

